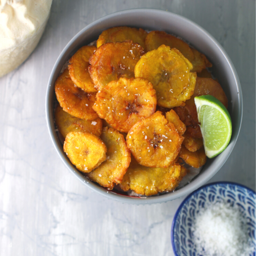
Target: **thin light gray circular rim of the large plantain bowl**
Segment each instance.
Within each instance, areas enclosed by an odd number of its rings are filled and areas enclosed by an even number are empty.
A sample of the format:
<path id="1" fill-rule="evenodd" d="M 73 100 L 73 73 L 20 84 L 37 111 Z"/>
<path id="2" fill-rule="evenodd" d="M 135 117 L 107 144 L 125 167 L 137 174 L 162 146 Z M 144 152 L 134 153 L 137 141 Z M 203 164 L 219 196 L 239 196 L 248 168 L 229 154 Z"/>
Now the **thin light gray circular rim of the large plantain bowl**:
<path id="1" fill-rule="evenodd" d="M 93 26 L 102 23 L 106 20 L 111 20 L 114 17 L 120 16 L 120 15 L 129 15 L 129 14 L 134 14 L 134 13 L 145 13 L 147 12 L 147 15 L 153 15 L 153 14 L 158 14 L 158 15 L 168 15 L 169 17 L 175 18 L 176 20 L 178 20 L 178 22 L 182 21 L 185 22 L 191 26 L 194 26 L 195 29 L 199 32 L 201 32 L 202 34 L 205 35 L 205 37 L 209 38 L 209 40 L 212 41 L 213 44 L 215 44 L 215 47 L 217 47 L 219 49 L 219 51 L 221 52 L 221 54 L 223 55 L 223 57 L 226 60 L 226 63 L 228 64 L 230 71 L 233 74 L 233 78 L 236 81 L 236 87 L 237 90 L 239 92 L 239 96 L 238 96 L 238 105 L 239 105 L 239 113 L 238 113 L 238 129 L 236 134 L 234 135 L 234 140 L 233 140 L 233 144 L 230 145 L 230 150 L 228 151 L 225 160 L 223 160 L 222 162 L 219 161 L 220 163 L 217 164 L 216 169 L 214 170 L 214 172 L 211 172 L 210 175 L 201 175 L 201 180 L 198 183 L 190 183 L 187 184 L 186 187 L 187 189 L 183 190 L 175 190 L 175 193 L 166 193 L 163 194 L 161 196 L 152 196 L 152 197 L 131 197 L 131 196 L 124 196 L 124 195 L 119 195 L 115 192 L 110 192 L 105 189 L 102 188 L 101 186 L 98 186 L 96 184 L 94 184 L 91 181 L 88 181 L 84 178 L 81 178 L 81 174 L 78 174 L 78 171 L 76 170 L 76 168 L 74 166 L 71 166 L 71 163 L 68 164 L 66 158 L 63 155 L 63 152 L 61 152 L 59 145 L 57 143 L 57 141 L 55 140 L 55 131 L 51 128 L 52 122 L 53 120 L 50 119 L 50 111 L 51 111 L 51 104 L 52 102 L 49 101 L 49 93 L 51 90 L 51 84 L 52 84 L 52 80 L 53 77 L 55 75 L 56 69 L 58 67 L 58 63 L 61 61 L 61 59 L 63 58 L 64 54 L 67 52 L 67 50 L 72 46 L 72 44 L 81 36 L 84 34 L 84 32 L 86 32 L 89 29 L 92 29 Z M 236 144 L 236 141 L 238 139 L 239 136 L 239 132 L 241 129 L 241 122 L 242 122 L 242 113 L 243 113 L 243 101 L 242 101 L 242 92 L 241 92 L 241 85 L 239 82 L 239 77 L 236 73 L 236 69 L 232 63 L 232 61 L 230 60 L 229 56 L 227 55 L 226 51 L 221 47 L 221 45 L 218 43 L 218 41 L 213 38 L 212 35 L 209 34 L 209 32 L 207 32 L 205 29 L 203 29 L 201 26 L 199 26 L 197 23 L 194 23 L 193 21 L 187 19 L 186 17 L 183 17 L 181 15 L 177 15 L 174 14 L 172 12 L 168 12 L 168 11 L 163 11 L 163 10 L 159 10 L 159 9 L 150 9 L 150 8 L 139 8 L 139 9 L 128 9 L 128 10 L 122 10 L 119 12 L 114 12 L 111 13 L 109 15 L 106 15 L 104 17 L 99 18 L 98 20 L 93 21 L 92 23 L 90 23 L 89 25 L 85 26 L 84 29 L 81 29 L 70 41 L 69 43 L 64 47 L 64 49 L 61 51 L 60 55 L 58 56 L 53 68 L 52 68 L 52 72 L 49 76 L 49 81 L 47 84 L 47 91 L 46 91 L 46 102 L 45 102 L 45 111 L 46 111 L 46 120 L 47 120 L 47 127 L 48 127 L 48 131 L 49 131 L 49 135 L 50 138 L 52 140 L 52 143 L 55 147 L 55 150 L 57 151 L 59 157 L 61 157 L 62 162 L 64 163 L 64 165 L 67 167 L 67 169 L 69 169 L 70 172 L 73 173 L 73 175 L 75 175 L 82 183 L 84 183 L 85 185 L 87 185 L 90 189 L 92 189 L 95 192 L 98 192 L 101 195 L 106 196 L 109 199 L 114 199 L 116 201 L 122 202 L 122 203 L 128 203 L 128 204 L 156 204 L 156 203 L 163 203 L 163 202 L 167 202 L 167 201 L 171 201 L 177 198 L 180 198 L 183 195 L 187 195 L 188 193 L 194 191 L 195 189 L 197 189 L 198 187 L 202 186 L 204 183 L 206 183 L 212 176 L 214 176 L 218 170 L 224 165 L 224 163 L 226 162 L 227 158 L 229 157 L 229 155 L 231 154 L 231 152 L 233 151 L 233 148 Z M 86 182 L 87 181 L 87 182 Z"/>

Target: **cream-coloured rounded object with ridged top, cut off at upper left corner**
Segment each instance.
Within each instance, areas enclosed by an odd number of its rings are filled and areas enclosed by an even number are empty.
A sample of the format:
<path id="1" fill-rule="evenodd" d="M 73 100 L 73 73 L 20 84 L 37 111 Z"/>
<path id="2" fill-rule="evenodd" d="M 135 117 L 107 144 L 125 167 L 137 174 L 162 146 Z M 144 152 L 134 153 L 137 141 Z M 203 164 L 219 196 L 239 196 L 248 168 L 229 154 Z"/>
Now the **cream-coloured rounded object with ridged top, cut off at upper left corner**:
<path id="1" fill-rule="evenodd" d="M 18 67 L 35 49 L 52 0 L 0 0 L 0 77 Z"/>

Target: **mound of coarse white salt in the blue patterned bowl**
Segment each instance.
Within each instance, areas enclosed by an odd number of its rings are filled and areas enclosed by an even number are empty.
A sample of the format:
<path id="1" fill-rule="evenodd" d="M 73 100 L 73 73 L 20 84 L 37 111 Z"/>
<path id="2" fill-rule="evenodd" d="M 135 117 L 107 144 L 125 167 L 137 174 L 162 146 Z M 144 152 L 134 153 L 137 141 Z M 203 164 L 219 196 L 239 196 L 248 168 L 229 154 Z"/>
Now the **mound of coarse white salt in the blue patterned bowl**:
<path id="1" fill-rule="evenodd" d="M 253 250 L 246 220 L 236 205 L 227 202 L 217 202 L 201 209 L 195 216 L 192 231 L 197 252 L 204 256 L 245 256 Z"/>

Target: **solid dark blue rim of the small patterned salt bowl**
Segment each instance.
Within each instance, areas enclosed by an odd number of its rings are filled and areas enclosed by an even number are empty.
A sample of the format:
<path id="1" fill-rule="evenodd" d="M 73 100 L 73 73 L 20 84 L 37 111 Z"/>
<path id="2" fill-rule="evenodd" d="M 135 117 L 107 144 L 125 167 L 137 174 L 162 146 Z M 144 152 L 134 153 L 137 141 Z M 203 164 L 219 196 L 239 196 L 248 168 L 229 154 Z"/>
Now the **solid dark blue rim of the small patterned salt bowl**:
<path id="1" fill-rule="evenodd" d="M 195 194 L 197 194 L 199 191 L 207 188 L 207 187 L 210 187 L 210 186 L 216 186 L 216 185 L 221 185 L 221 184 L 224 184 L 224 185 L 234 185 L 236 187 L 240 187 L 240 188 L 243 188 L 243 189 L 246 189 L 248 190 L 249 192 L 253 193 L 254 195 L 256 195 L 256 192 L 253 190 L 253 189 L 250 189 L 248 188 L 247 186 L 244 186 L 240 183 L 236 183 L 236 182 L 231 182 L 231 181 L 216 181 L 216 182 L 212 182 L 212 183 L 207 183 L 205 184 L 204 186 L 201 186 L 200 188 L 196 189 L 195 191 L 191 192 L 188 196 L 186 196 L 186 198 L 181 202 L 180 206 L 178 207 L 177 211 L 175 212 L 175 215 L 173 217 L 173 220 L 172 220 L 172 227 L 171 227 L 171 241 L 172 241 L 172 250 L 175 254 L 175 256 L 180 256 L 177 254 L 177 251 L 176 251 L 176 247 L 175 247 L 175 244 L 174 244 L 174 227 L 175 227 L 175 222 L 177 220 L 177 217 L 178 215 L 180 214 L 180 211 L 181 209 L 183 208 L 184 204 L 186 204 L 186 202 L 188 202 L 192 196 L 194 196 Z"/>

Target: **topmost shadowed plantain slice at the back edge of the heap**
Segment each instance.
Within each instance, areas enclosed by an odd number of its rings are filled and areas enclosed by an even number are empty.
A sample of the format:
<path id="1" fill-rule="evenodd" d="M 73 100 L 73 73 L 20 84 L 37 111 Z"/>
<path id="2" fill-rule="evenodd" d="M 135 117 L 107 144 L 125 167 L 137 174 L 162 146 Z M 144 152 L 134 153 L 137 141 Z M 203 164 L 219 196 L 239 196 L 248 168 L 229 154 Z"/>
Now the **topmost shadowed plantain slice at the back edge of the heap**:
<path id="1" fill-rule="evenodd" d="M 104 30 L 97 40 L 97 47 L 109 42 L 122 42 L 132 40 L 145 49 L 145 38 L 148 35 L 144 29 L 135 29 L 127 26 L 113 27 Z"/>

